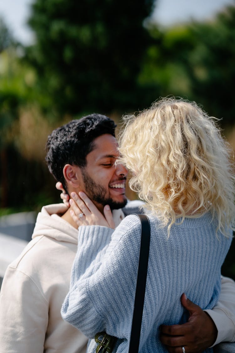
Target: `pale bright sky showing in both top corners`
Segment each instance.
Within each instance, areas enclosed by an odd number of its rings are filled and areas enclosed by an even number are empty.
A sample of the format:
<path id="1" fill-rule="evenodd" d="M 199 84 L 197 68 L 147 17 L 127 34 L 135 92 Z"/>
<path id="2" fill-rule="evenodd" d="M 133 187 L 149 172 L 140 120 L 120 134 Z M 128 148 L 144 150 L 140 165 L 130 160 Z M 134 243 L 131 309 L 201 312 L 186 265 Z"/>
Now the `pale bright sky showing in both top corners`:
<path id="1" fill-rule="evenodd" d="M 0 15 L 4 17 L 14 37 L 24 44 L 33 40 L 32 32 L 26 25 L 32 2 L 33 0 L 0 0 Z M 166 26 L 186 22 L 191 18 L 204 20 L 213 17 L 228 4 L 235 4 L 235 0 L 157 0 L 153 17 Z"/>

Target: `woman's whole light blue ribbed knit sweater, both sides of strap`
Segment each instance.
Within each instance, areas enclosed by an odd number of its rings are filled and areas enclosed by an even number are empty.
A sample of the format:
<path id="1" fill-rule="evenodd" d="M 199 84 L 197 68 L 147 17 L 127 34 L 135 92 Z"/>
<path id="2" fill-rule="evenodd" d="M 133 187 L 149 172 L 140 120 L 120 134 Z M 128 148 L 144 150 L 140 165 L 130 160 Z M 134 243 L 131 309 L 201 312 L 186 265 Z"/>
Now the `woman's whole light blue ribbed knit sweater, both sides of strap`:
<path id="1" fill-rule="evenodd" d="M 179 221 L 178 221 L 179 223 Z M 183 292 L 203 309 L 211 309 L 220 293 L 220 269 L 231 238 L 216 238 L 210 214 L 166 228 L 150 216 L 151 241 L 140 337 L 140 352 L 167 352 L 159 341 L 160 324 L 187 320 L 180 303 Z M 70 291 L 61 314 L 64 320 L 94 338 L 100 331 L 119 337 L 115 352 L 128 352 L 140 251 L 141 225 L 127 216 L 113 231 L 79 227 L 78 252 Z M 88 352 L 95 352 L 91 340 Z M 208 349 L 206 352 L 212 352 Z"/>

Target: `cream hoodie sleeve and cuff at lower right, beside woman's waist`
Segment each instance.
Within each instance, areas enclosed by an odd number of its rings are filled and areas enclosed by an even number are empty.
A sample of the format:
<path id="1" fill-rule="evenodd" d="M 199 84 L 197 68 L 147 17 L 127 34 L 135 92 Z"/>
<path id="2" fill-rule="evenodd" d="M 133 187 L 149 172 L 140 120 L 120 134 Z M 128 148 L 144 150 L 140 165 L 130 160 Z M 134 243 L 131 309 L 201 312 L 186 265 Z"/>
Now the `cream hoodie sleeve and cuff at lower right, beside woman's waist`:
<path id="1" fill-rule="evenodd" d="M 205 310 L 214 321 L 218 335 L 212 347 L 220 342 L 235 342 L 235 282 L 221 276 L 221 293 L 212 310 Z"/>

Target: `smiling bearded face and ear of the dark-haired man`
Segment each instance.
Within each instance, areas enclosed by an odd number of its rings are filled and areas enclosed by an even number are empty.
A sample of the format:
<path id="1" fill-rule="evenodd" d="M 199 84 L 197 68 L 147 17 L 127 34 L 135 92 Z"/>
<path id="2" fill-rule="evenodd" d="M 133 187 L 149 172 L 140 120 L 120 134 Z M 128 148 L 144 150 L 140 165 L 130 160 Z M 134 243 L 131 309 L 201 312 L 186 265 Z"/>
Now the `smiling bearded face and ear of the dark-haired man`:
<path id="1" fill-rule="evenodd" d="M 92 142 L 93 150 L 86 156 L 86 166 L 65 166 L 64 173 L 68 177 L 68 169 L 75 168 L 79 175 L 80 188 L 87 191 L 101 212 L 108 204 L 111 209 L 119 209 L 126 205 L 125 183 L 127 170 L 115 161 L 118 157 L 117 141 L 111 134 L 103 134 Z"/>

